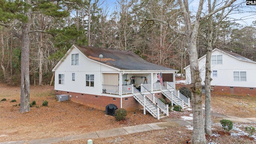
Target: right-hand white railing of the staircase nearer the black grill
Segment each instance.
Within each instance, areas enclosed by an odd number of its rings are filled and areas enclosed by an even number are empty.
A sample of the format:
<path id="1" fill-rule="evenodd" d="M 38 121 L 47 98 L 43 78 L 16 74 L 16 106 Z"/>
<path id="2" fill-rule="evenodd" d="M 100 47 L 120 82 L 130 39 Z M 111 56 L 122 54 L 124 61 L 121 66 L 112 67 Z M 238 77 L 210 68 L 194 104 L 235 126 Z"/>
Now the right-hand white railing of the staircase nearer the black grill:
<path id="1" fill-rule="evenodd" d="M 148 89 L 146 89 L 143 85 L 140 86 L 140 92 L 145 94 L 154 104 L 156 104 L 167 116 L 169 116 L 169 109 L 166 104 L 164 104 L 159 98 L 154 96 Z"/>

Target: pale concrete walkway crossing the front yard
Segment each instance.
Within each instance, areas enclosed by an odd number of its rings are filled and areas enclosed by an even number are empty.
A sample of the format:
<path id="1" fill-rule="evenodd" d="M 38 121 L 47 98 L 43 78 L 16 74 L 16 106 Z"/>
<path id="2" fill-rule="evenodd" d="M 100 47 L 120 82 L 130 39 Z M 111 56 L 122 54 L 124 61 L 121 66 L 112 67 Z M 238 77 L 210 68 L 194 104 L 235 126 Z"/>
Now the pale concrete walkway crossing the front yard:
<path id="1" fill-rule="evenodd" d="M 231 120 L 234 123 L 256 122 L 256 118 L 239 118 L 239 117 L 235 117 L 235 116 L 228 116 L 228 115 L 218 114 L 218 113 L 212 113 L 212 115 L 219 117 L 216 119 L 212 119 L 213 124 L 220 123 L 220 120 L 222 120 L 222 119 Z M 159 129 L 176 127 L 176 126 L 189 126 L 189 125 L 192 125 L 192 123 L 193 123 L 193 120 L 179 120 L 179 119 L 172 119 L 172 118 L 167 118 L 165 120 L 166 120 L 166 122 L 142 124 L 142 125 L 136 125 L 136 126 L 127 126 L 127 127 L 123 127 L 123 128 L 114 128 L 114 129 L 109 129 L 109 130 L 88 132 L 88 133 L 79 134 L 79 135 L 63 136 L 63 137 L 58 137 L 58 138 L 42 138 L 42 139 L 36 139 L 36 140 L 0 142 L 0 144 L 52 144 L 55 142 L 62 142 L 62 141 L 120 136 L 120 135 L 125 135 L 125 134 L 146 132 L 149 130 L 159 130 Z"/>

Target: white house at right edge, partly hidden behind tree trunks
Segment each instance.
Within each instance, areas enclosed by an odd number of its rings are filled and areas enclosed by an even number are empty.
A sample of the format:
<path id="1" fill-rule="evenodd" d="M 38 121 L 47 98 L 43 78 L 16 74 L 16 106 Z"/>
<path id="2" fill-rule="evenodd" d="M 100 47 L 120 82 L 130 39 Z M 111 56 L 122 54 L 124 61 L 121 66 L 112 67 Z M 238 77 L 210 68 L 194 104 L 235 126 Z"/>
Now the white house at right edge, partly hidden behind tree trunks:
<path id="1" fill-rule="evenodd" d="M 205 80 L 206 55 L 198 59 L 202 85 Z M 190 65 L 184 68 L 186 83 L 191 83 Z M 256 62 L 225 50 L 212 50 L 211 86 L 213 91 L 227 94 L 255 95 Z"/>

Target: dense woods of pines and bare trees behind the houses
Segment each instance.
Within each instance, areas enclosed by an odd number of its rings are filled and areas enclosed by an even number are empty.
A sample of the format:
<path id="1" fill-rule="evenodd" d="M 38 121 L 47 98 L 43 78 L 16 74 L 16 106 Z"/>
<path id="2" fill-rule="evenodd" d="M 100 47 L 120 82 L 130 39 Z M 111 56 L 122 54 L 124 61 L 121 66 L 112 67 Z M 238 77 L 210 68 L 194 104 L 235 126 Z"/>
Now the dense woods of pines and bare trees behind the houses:
<path id="1" fill-rule="evenodd" d="M 186 36 L 177 34 L 160 22 L 147 20 L 158 18 L 178 30 L 183 30 L 182 14 L 174 0 L 118 0 L 115 4 L 110 2 L 32 1 L 30 84 L 50 84 L 52 68 L 72 44 L 128 50 L 148 62 L 180 71 L 188 66 Z M 16 37 L 15 32 L 22 34 L 22 22 L 26 20 L 20 20 L 24 14 L 19 10 L 20 3 L 17 1 L 14 4 L 16 5 L 0 4 L 3 16 L 10 13 L 15 16 L 13 19 L 0 16 L 0 82 L 19 85 L 21 40 Z M 233 13 L 242 10 L 242 6 L 237 7 Z M 232 19 L 230 14 L 224 14 L 226 17 L 223 20 L 220 20 L 220 13 L 213 16 L 213 35 L 216 36 L 213 48 L 232 51 L 256 61 L 256 21 L 242 25 L 238 20 Z M 200 22 L 197 36 L 198 58 L 206 54 L 208 24 L 206 19 Z"/>

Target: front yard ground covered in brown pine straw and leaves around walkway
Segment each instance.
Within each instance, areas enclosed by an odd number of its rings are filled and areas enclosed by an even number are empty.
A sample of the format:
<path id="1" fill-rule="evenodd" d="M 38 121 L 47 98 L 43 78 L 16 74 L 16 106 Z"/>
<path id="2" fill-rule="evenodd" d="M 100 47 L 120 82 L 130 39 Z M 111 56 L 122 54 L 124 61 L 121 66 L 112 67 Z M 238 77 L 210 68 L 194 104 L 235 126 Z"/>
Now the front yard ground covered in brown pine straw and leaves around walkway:
<path id="1" fill-rule="evenodd" d="M 33 140 L 39 138 L 60 137 L 82 134 L 124 126 L 134 126 L 154 122 L 157 120 L 150 114 L 143 114 L 143 110 L 128 112 L 126 120 L 116 122 L 115 118 L 106 115 L 104 111 L 83 106 L 70 101 L 57 102 L 53 86 L 31 86 L 30 102 L 36 101 L 30 112 L 19 113 L 20 87 L 11 87 L 0 84 L 0 142 L 14 140 Z M 16 102 L 11 102 L 16 100 Z M 44 100 L 48 106 L 42 106 Z M 212 112 L 228 114 L 244 118 L 256 117 L 256 97 L 254 96 L 227 96 L 212 95 Z M 169 118 L 189 116 L 190 111 L 170 112 Z M 214 135 L 207 136 L 211 144 L 224 142 L 236 144 L 256 144 L 254 138 L 246 134 L 237 133 L 244 130 L 245 126 L 254 126 L 255 123 L 234 124 L 233 130 L 224 132 L 220 124 L 212 125 Z M 192 137 L 189 127 L 167 128 L 148 132 L 129 134 L 110 138 L 93 139 L 94 144 L 184 144 Z M 72 142 L 59 142 L 58 144 L 81 144 L 87 140 Z"/>

